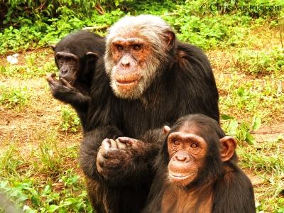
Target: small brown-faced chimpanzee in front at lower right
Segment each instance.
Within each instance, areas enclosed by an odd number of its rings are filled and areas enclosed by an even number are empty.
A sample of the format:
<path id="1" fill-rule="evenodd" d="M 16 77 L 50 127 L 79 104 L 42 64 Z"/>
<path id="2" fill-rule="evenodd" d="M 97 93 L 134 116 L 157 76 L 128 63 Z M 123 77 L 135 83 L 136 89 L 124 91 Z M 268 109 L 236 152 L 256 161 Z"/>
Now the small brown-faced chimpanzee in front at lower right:
<path id="1" fill-rule="evenodd" d="M 251 181 L 236 165 L 236 141 L 217 121 L 191 114 L 165 133 L 143 212 L 256 212 Z"/>

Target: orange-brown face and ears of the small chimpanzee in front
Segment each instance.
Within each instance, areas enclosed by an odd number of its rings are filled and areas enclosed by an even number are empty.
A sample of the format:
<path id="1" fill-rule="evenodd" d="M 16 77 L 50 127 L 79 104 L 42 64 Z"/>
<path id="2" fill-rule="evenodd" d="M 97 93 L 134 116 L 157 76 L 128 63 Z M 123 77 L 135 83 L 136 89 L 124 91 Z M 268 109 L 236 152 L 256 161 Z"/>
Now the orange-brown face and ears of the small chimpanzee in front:
<path id="1" fill-rule="evenodd" d="M 216 124 L 218 125 L 218 124 Z M 213 129 L 194 124 L 194 121 L 180 124 L 175 131 L 165 126 L 168 135 L 168 178 L 170 182 L 182 187 L 199 180 L 199 175 L 208 168 L 208 162 L 222 162 L 230 160 L 236 148 L 236 141 L 231 136 L 224 136 L 217 140 L 210 140 Z M 211 136 L 216 137 L 216 136 Z M 207 141 L 208 140 L 208 141 Z M 209 148 L 210 147 L 210 148 Z M 212 155 L 214 153 L 214 155 Z"/>

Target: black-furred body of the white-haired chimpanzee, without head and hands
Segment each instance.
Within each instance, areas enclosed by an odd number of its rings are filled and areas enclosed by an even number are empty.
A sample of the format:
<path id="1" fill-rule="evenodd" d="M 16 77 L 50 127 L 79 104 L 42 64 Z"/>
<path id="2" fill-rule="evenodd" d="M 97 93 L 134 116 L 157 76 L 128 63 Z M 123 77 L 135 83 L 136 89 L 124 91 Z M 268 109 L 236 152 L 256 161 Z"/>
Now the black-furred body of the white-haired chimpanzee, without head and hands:
<path id="1" fill-rule="evenodd" d="M 119 99 L 109 86 L 104 60 L 97 62 L 80 165 L 87 175 L 89 199 L 97 212 L 141 212 L 153 180 L 162 127 L 180 116 L 203 113 L 219 121 L 218 92 L 207 57 L 194 45 L 180 43 L 160 62 L 160 75 L 140 99 Z M 97 172 L 98 148 L 104 138 L 136 138 L 142 148 L 129 151 L 108 178 Z M 124 154 L 124 153 L 121 153 Z M 126 160 L 126 161 L 125 161 Z"/>

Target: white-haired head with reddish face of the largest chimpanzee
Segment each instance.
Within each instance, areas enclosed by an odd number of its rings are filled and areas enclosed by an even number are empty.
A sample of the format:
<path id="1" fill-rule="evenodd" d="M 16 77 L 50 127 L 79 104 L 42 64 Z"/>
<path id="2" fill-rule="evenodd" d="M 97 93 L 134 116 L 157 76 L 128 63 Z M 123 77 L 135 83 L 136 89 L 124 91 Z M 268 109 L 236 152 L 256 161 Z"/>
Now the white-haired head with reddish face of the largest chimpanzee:
<path id="1" fill-rule="evenodd" d="M 116 96 L 138 99 L 168 63 L 175 33 L 160 18 L 152 17 L 150 22 L 155 24 L 150 28 L 149 23 L 130 22 L 126 25 L 121 20 L 109 29 L 104 59 Z"/>

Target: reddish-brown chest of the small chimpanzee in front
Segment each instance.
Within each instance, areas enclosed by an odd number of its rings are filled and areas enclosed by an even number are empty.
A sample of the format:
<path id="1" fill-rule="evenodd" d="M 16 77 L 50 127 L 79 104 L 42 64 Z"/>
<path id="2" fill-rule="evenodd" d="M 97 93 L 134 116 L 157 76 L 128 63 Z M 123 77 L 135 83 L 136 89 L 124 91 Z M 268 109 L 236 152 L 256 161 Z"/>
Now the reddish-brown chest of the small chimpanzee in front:
<path id="1" fill-rule="evenodd" d="M 212 212 L 212 182 L 189 190 L 168 184 L 161 202 L 161 212 Z"/>

